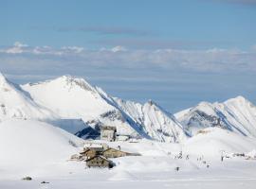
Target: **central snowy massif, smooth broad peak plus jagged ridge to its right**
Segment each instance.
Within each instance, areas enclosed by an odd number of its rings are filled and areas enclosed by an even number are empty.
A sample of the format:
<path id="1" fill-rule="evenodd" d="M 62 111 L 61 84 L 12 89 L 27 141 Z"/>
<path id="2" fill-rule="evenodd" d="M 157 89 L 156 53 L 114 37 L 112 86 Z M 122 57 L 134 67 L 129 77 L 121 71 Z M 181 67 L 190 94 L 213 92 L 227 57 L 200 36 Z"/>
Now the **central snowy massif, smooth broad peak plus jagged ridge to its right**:
<path id="1" fill-rule="evenodd" d="M 28 83 L 22 88 L 36 103 L 63 118 L 82 118 L 98 131 L 101 126 L 115 126 L 119 134 L 162 142 L 181 142 L 187 137 L 174 116 L 155 103 L 126 103 L 106 94 L 99 87 L 91 86 L 82 78 L 64 76 Z M 86 133 L 87 129 L 77 132 L 81 137 Z"/>

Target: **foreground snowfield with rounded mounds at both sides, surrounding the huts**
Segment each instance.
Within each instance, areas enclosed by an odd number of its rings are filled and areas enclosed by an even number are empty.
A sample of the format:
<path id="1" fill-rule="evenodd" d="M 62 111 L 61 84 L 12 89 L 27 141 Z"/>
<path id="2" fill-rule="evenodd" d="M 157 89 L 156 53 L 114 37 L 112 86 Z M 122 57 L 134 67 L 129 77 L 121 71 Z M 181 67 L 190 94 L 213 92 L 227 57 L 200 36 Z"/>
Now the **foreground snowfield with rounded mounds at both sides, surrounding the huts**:
<path id="1" fill-rule="evenodd" d="M 255 160 L 242 157 L 221 162 L 220 155 L 223 150 L 253 152 L 255 138 L 220 128 L 204 131 L 183 144 L 146 139 L 108 142 L 141 154 L 112 159 L 117 166 L 109 170 L 67 161 L 82 150 L 84 141 L 63 129 L 39 121 L 4 121 L 0 123 L 0 188 L 254 188 Z M 181 150 L 183 158 L 175 158 Z M 21 180 L 26 176 L 33 180 Z"/>

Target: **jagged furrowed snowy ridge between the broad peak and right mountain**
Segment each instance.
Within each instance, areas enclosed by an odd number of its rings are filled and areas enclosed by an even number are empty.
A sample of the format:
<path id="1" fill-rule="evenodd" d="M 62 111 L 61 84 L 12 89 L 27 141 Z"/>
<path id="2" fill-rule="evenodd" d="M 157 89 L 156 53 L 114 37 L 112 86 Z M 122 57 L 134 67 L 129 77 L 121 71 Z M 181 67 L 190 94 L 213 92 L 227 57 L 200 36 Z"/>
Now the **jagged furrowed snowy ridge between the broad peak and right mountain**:
<path id="1" fill-rule="evenodd" d="M 171 143 L 182 142 L 187 132 L 170 112 L 150 100 L 144 105 L 116 98 L 120 109 L 130 115 L 152 138 Z"/>

